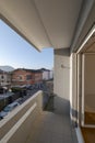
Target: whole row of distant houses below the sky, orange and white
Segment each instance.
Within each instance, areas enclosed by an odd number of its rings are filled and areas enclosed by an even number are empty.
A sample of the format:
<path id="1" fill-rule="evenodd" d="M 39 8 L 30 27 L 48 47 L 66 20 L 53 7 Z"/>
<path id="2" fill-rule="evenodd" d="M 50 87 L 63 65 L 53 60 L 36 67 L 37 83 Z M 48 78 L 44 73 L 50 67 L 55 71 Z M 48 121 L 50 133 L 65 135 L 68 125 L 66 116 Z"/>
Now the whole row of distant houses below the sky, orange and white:
<path id="1" fill-rule="evenodd" d="M 17 68 L 11 73 L 0 69 L 0 86 L 23 86 L 39 84 L 43 80 L 52 79 L 52 70 Z"/>

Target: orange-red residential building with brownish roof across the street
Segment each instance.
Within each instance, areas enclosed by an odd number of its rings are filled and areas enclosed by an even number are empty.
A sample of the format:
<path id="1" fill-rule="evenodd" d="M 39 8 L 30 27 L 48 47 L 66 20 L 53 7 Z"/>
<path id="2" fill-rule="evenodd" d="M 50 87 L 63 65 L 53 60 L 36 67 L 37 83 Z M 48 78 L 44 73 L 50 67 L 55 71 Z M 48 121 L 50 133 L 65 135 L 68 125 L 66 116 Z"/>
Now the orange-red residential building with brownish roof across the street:
<path id="1" fill-rule="evenodd" d="M 41 72 L 17 68 L 12 72 L 12 85 L 33 85 L 41 81 Z"/>

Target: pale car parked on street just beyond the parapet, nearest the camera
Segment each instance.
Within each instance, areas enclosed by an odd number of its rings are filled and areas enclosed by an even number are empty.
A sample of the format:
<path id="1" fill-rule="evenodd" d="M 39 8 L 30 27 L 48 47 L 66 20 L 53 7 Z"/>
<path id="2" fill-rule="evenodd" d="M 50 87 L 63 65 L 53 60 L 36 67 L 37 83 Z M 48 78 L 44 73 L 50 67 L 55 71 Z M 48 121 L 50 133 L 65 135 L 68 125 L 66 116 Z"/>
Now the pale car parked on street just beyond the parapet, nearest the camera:
<path id="1" fill-rule="evenodd" d="M 19 102 L 12 102 L 8 105 L 1 112 L 0 112 L 0 119 L 3 119 L 9 112 L 11 112 L 14 108 L 20 106 Z"/>

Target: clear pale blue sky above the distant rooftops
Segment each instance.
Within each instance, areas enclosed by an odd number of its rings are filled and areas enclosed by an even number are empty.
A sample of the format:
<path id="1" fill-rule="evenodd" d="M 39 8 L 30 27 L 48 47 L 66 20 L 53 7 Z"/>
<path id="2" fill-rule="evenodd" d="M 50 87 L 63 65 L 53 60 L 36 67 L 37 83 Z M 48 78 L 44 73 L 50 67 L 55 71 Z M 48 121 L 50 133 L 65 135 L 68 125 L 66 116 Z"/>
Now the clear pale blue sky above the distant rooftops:
<path id="1" fill-rule="evenodd" d="M 35 50 L 12 29 L 0 20 L 0 65 L 14 68 L 54 67 L 54 50 Z"/>

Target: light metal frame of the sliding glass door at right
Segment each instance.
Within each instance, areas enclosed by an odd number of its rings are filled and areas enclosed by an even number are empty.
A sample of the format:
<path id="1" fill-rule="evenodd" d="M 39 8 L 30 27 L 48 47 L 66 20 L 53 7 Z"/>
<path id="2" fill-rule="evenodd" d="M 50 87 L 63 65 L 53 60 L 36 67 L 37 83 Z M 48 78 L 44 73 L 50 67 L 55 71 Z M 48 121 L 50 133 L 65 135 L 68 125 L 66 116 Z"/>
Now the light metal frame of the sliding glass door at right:
<path id="1" fill-rule="evenodd" d="M 82 51 L 85 48 L 85 44 L 88 42 L 91 36 L 95 33 L 95 24 L 86 35 L 84 42 L 81 44 L 80 48 L 76 51 L 76 96 L 78 96 L 78 124 L 81 127 L 95 128 L 92 124 L 85 124 L 84 116 L 84 73 L 85 73 L 85 54 Z"/>

